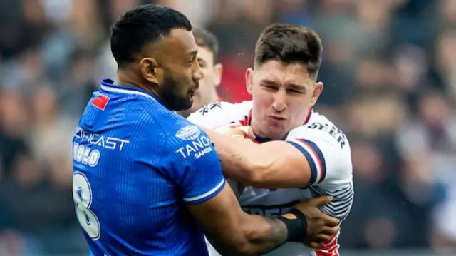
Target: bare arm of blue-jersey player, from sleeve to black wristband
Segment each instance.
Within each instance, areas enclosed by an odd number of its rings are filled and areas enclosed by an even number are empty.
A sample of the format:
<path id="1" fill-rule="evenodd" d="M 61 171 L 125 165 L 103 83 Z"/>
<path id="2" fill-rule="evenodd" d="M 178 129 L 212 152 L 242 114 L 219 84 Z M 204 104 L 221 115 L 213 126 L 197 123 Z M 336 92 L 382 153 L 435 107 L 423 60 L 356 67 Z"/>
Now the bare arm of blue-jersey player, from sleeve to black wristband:
<path id="1" fill-rule="evenodd" d="M 259 255 L 287 238 L 286 225 L 281 220 L 244 213 L 228 185 L 214 198 L 189 205 L 189 209 L 222 255 Z"/>

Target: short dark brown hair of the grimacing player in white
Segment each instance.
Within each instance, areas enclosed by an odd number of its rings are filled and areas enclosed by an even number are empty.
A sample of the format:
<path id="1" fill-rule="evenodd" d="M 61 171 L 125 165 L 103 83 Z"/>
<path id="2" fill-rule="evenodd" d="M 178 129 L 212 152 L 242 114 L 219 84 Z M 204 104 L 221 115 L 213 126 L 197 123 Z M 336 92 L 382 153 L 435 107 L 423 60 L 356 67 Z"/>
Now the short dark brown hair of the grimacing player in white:
<path id="1" fill-rule="evenodd" d="M 276 60 L 301 63 L 316 78 L 321 65 L 323 46 L 315 31 L 305 26 L 271 24 L 259 36 L 255 46 L 255 65 Z"/>

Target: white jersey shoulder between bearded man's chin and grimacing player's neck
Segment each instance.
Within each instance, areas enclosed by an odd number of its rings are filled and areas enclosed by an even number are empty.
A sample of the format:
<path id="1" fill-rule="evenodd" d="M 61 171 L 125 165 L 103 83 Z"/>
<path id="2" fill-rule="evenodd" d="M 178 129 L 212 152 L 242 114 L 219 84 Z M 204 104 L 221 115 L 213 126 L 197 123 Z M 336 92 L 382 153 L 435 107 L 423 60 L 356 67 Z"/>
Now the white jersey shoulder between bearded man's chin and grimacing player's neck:
<path id="1" fill-rule="evenodd" d="M 229 103 L 219 101 L 211 103 L 192 113 L 187 120 L 199 126 L 215 128 L 226 123 L 242 121 L 249 116 L 252 101 Z"/>

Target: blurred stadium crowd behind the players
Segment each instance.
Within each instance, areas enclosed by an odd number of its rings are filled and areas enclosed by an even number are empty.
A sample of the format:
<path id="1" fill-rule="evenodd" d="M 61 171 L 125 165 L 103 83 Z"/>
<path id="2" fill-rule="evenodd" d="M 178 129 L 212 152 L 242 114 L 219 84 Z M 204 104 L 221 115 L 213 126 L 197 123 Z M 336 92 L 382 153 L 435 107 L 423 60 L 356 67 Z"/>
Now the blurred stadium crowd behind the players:
<path id="1" fill-rule="evenodd" d="M 112 77 L 108 28 L 139 0 L 0 1 L 0 255 L 84 255 L 71 200 L 71 135 Z M 456 245 L 455 0 L 174 0 L 216 34 L 219 93 L 242 101 L 259 31 L 322 37 L 316 107 L 353 150 L 343 255 L 436 255 Z M 449 255 L 456 255 L 450 252 Z"/>

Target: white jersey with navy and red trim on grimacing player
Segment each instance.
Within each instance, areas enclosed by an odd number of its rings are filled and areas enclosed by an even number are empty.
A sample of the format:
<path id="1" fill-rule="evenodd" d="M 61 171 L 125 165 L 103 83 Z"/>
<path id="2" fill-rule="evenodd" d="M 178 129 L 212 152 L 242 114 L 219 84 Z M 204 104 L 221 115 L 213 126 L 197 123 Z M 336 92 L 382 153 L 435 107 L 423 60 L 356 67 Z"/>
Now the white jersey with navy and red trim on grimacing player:
<path id="1" fill-rule="evenodd" d="M 217 102 L 204 106 L 187 119 L 211 129 L 228 123 L 249 125 L 251 111 L 252 101 L 237 104 Z M 274 217 L 286 213 L 299 200 L 332 195 L 333 201 L 322 210 L 344 220 L 351 210 L 354 195 L 351 150 L 346 135 L 325 116 L 309 111 L 304 124 L 291 130 L 285 141 L 298 148 L 309 161 L 311 182 L 303 184 L 302 188 L 270 190 L 247 187 L 239 197 L 242 209 L 247 213 Z M 318 250 L 298 242 L 287 242 L 267 255 L 338 255 L 338 247 L 337 234 Z M 209 254 L 219 255 L 210 245 Z"/>

